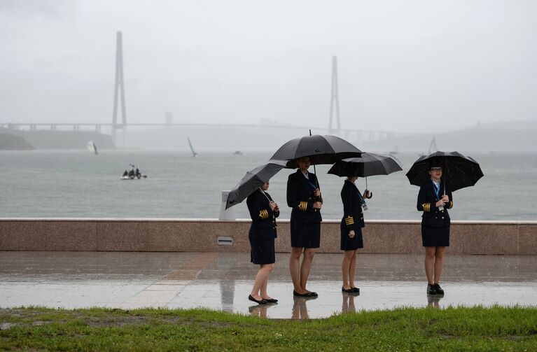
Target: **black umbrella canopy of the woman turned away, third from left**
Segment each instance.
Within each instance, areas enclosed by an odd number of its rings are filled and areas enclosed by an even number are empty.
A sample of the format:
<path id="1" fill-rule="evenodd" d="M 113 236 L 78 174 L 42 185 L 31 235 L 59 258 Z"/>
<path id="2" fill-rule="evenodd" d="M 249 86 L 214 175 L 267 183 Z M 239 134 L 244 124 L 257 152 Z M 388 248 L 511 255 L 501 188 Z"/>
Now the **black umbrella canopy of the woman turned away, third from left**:
<path id="1" fill-rule="evenodd" d="M 392 172 L 401 170 L 403 170 L 401 163 L 391 155 L 362 153 L 361 157 L 352 157 L 336 162 L 328 170 L 328 174 L 368 177 L 389 175 Z"/>

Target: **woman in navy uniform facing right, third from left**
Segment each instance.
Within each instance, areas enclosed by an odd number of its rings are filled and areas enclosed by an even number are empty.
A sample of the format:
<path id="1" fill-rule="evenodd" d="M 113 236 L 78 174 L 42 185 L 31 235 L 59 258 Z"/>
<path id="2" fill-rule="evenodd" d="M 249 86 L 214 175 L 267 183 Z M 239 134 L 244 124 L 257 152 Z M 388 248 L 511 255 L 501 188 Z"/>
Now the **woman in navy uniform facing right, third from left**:
<path id="1" fill-rule="evenodd" d="M 363 248 L 362 227 L 363 222 L 362 204 L 363 197 L 356 188 L 358 176 L 347 177 L 341 189 L 341 201 L 343 202 L 343 218 L 341 219 L 341 250 L 344 251 L 341 271 L 343 276 L 342 292 L 360 293 L 360 289 L 354 285 L 356 274 L 356 253 L 358 248 Z M 365 191 L 364 197 L 370 198 L 370 192 Z"/>

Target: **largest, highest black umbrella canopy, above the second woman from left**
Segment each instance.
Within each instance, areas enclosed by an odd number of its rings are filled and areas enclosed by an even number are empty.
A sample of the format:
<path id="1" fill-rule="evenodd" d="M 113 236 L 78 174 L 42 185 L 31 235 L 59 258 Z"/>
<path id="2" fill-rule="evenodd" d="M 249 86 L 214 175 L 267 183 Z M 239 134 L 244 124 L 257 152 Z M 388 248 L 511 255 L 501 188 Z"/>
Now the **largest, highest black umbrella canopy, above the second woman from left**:
<path id="1" fill-rule="evenodd" d="M 312 165 L 333 164 L 349 157 L 359 157 L 362 151 L 344 139 L 330 134 L 303 136 L 284 143 L 271 159 L 287 160 L 286 168 L 295 169 L 295 159 L 309 157 Z"/>

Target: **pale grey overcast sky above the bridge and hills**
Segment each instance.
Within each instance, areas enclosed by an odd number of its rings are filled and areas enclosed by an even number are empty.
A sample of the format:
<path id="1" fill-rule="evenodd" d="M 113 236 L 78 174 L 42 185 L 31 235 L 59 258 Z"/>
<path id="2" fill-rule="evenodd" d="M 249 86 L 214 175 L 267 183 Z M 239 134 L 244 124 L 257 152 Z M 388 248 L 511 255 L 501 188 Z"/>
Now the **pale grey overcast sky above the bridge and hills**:
<path id="1" fill-rule="evenodd" d="M 442 132 L 537 118 L 537 1 L 0 0 L 0 122 Z"/>

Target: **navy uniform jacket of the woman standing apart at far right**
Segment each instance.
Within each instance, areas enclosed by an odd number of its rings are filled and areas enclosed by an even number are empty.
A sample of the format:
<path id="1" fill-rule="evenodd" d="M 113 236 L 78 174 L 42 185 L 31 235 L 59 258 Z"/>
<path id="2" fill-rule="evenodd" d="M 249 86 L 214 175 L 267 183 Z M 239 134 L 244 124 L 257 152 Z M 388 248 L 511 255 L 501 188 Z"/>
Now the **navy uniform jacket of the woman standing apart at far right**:
<path id="1" fill-rule="evenodd" d="M 421 216 L 421 225 L 430 227 L 449 226 L 451 220 L 449 219 L 447 209 L 453 208 L 452 192 L 449 189 L 449 185 L 445 185 L 444 180 L 441 180 L 438 195 L 442 198 L 442 195 L 445 192 L 447 197 L 449 197 L 449 202 L 444 206 L 444 210 L 440 210 L 436 206 L 436 202 L 438 202 L 440 198 L 436 197 L 433 187 L 435 187 L 433 181 L 429 180 L 419 188 L 417 209 L 418 211 L 424 212 Z"/>

